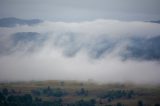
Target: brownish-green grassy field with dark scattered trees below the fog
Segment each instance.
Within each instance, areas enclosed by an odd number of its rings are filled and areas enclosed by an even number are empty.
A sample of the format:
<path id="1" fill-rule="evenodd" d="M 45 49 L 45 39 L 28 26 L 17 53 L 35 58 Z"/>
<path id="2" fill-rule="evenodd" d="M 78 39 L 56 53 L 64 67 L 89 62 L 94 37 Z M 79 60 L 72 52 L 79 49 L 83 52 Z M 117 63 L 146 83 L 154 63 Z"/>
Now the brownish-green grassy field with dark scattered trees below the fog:
<path id="1" fill-rule="evenodd" d="M 0 106 L 160 106 L 160 86 L 56 80 L 1 83 Z"/>

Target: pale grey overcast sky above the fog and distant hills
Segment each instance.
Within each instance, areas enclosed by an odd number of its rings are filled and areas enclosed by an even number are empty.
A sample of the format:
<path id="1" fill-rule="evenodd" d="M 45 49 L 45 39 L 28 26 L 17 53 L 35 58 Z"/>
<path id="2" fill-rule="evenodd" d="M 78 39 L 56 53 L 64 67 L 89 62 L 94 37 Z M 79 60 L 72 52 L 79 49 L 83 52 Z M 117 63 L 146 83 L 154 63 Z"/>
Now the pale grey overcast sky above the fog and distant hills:
<path id="1" fill-rule="evenodd" d="M 0 17 L 159 20 L 160 0 L 0 0 Z"/>

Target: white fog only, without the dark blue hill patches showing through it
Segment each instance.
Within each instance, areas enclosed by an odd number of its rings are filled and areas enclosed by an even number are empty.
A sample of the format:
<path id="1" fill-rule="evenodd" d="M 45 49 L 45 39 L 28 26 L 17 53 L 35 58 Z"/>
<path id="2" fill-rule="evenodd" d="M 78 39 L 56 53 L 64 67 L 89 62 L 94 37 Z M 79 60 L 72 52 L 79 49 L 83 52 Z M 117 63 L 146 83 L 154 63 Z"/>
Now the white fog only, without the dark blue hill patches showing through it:
<path id="1" fill-rule="evenodd" d="M 16 47 L 10 45 L 9 39 L 16 32 L 38 32 L 39 36 L 47 38 L 36 52 L 15 49 L 8 55 L 1 55 L 0 80 L 94 79 L 101 82 L 160 82 L 159 63 L 146 60 L 122 61 L 119 58 L 118 53 L 125 50 L 127 40 L 118 43 L 111 52 L 104 52 L 100 59 L 88 57 L 88 54 L 108 45 L 103 42 L 106 37 L 109 42 L 134 36 L 154 37 L 160 34 L 160 24 L 117 20 L 77 23 L 46 21 L 36 26 L 0 28 L 0 32 L 4 34 L 0 43 L 7 44 L 12 49 Z M 4 48 L 9 48 L 8 46 Z M 24 45 L 22 48 L 30 46 L 35 45 Z M 76 52 L 76 56 L 63 55 L 71 52 Z"/>

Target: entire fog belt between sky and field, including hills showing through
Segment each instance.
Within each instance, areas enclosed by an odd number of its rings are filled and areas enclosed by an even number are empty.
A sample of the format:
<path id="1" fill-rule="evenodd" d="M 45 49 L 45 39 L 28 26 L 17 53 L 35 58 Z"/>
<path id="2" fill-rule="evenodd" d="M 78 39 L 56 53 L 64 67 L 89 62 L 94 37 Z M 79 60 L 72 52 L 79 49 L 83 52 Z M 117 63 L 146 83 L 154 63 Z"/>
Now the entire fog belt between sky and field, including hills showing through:
<path id="1" fill-rule="evenodd" d="M 160 83 L 157 23 L 43 21 L 0 27 L 0 34 L 1 81 Z"/>

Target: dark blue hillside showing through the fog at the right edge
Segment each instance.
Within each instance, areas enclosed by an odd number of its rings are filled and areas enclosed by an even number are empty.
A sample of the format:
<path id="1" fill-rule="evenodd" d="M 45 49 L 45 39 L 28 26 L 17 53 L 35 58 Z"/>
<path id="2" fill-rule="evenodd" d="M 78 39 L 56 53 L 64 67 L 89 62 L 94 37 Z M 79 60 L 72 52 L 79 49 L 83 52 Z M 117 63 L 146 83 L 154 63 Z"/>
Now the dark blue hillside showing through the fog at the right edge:
<path id="1" fill-rule="evenodd" d="M 160 36 L 150 38 L 130 38 L 125 58 L 140 60 L 160 60 Z"/>

